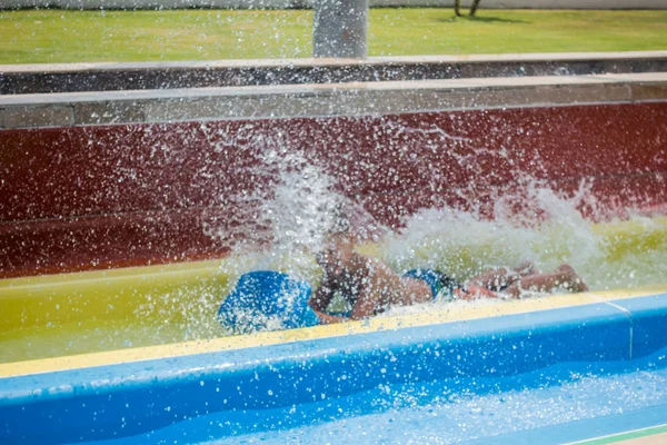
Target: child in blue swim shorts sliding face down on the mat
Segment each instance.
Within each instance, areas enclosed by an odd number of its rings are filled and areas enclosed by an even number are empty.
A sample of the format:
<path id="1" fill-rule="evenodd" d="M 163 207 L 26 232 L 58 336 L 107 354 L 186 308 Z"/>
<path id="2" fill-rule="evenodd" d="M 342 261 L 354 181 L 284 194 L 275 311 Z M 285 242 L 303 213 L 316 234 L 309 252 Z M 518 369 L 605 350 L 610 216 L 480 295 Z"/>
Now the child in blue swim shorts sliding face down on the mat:
<path id="1" fill-rule="evenodd" d="M 588 290 L 568 265 L 549 274 L 539 274 L 527 263 L 517 271 L 504 268 L 485 271 L 466 284 L 430 269 L 414 269 L 401 277 L 384 261 L 356 253 L 352 237 L 345 227 L 329 237 L 327 247 L 317 255 L 317 261 L 325 276 L 309 305 L 321 324 L 348 319 L 325 312 L 336 294 L 350 304 L 349 319 L 356 320 L 391 306 L 431 301 L 441 295 L 452 299 L 495 298 L 496 291 L 504 291 L 518 298 L 522 289 L 549 291 L 560 286 L 570 291 Z"/>

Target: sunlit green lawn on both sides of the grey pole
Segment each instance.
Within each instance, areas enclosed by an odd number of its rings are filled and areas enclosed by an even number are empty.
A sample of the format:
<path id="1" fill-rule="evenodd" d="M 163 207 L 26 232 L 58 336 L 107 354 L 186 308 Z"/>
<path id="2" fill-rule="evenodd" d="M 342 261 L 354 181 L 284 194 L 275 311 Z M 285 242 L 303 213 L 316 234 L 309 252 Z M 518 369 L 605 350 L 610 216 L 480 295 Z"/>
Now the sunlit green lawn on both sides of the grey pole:
<path id="1" fill-rule="evenodd" d="M 369 56 L 667 49 L 667 11 L 478 14 L 371 9 Z M 305 10 L 0 11 L 0 63 L 310 57 L 311 28 Z"/>

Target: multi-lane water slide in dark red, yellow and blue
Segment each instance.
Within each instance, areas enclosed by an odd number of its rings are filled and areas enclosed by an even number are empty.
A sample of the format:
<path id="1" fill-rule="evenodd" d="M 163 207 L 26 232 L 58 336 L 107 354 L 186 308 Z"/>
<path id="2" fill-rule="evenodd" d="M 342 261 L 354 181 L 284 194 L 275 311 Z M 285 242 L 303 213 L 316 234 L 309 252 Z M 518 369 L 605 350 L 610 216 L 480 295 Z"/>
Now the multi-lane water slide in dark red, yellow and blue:
<path id="1" fill-rule="evenodd" d="M 4 110 L 52 120 L 0 129 L 0 438 L 659 437 L 665 82 L 615 72 L 2 97 Z M 78 123 L 102 106 L 117 121 Z M 396 270 L 568 263 L 591 290 L 228 335 L 216 313 L 243 274 L 318 285 L 321 209 L 338 199 L 374 221 L 358 251 Z"/>

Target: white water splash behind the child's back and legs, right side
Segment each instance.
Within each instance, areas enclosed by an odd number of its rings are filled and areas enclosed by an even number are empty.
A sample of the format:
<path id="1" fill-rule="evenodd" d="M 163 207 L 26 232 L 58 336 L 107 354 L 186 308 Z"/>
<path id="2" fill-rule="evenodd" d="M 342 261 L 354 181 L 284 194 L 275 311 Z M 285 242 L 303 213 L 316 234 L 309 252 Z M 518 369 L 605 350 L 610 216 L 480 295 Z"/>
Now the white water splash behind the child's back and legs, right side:
<path id="1" fill-rule="evenodd" d="M 502 198 L 491 218 L 477 210 L 421 210 L 387 239 L 380 257 L 398 271 L 432 267 L 460 280 L 529 260 L 544 271 L 567 263 L 591 289 L 664 281 L 667 243 L 660 241 L 659 221 L 636 215 L 603 229 L 578 210 L 583 201 L 594 201 L 586 182 L 569 198 L 532 185 L 522 200 L 532 211 L 517 214 L 512 199 Z M 615 233 L 624 225 L 635 228 L 634 238 Z"/>

